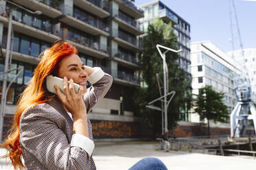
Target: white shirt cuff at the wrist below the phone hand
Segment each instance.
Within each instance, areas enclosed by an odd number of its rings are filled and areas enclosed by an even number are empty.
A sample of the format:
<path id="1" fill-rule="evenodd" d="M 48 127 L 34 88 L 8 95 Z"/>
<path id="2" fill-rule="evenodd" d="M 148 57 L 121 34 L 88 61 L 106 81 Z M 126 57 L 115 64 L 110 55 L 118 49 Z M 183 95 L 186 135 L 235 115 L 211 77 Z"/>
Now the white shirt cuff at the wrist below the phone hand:
<path id="1" fill-rule="evenodd" d="M 81 147 L 89 154 L 89 156 L 91 156 L 92 152 L 94 151 L 95 145 L 94 145 L 94 141 L 87 138 L 86 136 L 83 136 L 81 134 L 73 134 L 70 146 L 71 147 Z"/>

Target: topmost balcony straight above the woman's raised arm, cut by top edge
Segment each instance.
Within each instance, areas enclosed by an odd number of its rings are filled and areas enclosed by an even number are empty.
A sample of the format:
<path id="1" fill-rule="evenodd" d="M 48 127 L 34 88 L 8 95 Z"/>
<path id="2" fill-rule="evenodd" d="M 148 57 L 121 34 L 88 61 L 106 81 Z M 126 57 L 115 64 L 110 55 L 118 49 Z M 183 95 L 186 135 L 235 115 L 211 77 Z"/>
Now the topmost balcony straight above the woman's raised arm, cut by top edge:
<path id="1" fill-rule="evenodd" d="M 99 0 L 74 0 L 74 5 L 83 8 L 92 14 L 96 14 L 102 19 L 110 16 L 109 12 L 107 12 L 107 6 L 101 5 Z"/>

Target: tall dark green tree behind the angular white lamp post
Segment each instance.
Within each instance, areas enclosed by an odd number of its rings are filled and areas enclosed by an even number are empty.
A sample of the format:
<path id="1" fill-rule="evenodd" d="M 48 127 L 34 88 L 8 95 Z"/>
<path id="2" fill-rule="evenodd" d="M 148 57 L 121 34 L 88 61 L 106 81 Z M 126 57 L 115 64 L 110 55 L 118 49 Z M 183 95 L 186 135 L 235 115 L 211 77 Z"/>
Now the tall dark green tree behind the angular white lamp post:
<path id="1" fill-rule="evenodd" d="M 161 130 L 161 112 L 146 108 L 149 101 L 160 97 L 156 73 L 163 79 L 162 58 L 156 49 L 156 45 L 164 45 L 171 49 L 178 49 L 177 37 L 173 32 L 171 23 L 164 24 L 162 19 L 156 19 L 149 24 L 148 34 L 142 41 L 142 55 L 140 64 L 142 65 L 142 86 L 138 88 L 134 96 L 136 113 L 142 115 L 153 127 L 154 134 Z M 169 91 L 175 90 L 176 94 L 168 108 L 168 128 L 175 127 L 180 119 L 180 110 L 190 110 L 191 107 L 191 78 L 180 69 L 178 54 L 173 52 L 166 53 Z M 160 102 L 156 106 L 161 108 Z"/>

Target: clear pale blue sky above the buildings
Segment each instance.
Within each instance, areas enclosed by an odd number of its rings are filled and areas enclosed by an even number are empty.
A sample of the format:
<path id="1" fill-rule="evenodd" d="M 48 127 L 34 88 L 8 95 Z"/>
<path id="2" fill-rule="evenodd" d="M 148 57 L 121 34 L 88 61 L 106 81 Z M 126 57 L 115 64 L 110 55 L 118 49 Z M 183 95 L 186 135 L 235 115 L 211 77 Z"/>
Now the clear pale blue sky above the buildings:
<path id="1" fill-rule="evenodd" d="M 152 0 L 136 0 L 143 5 Z M 232 51 L 229 0 L 162 0 L 191 25 L 191 42 L 210 40 L 222 51 Z M 244 49 L 256 48 L 256 1 L 235 0 Z"/>

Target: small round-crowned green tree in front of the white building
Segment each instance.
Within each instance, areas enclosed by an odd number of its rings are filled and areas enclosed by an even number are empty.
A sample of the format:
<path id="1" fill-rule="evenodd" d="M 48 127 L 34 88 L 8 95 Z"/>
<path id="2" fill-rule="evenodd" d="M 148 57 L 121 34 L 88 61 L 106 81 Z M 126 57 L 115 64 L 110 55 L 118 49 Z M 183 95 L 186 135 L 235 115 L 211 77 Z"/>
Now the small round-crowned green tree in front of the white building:
<path id="1" fill-rule="evenodd" d="M 199 89 L 195 112 L 198 112 L 201 121 L 207 119 L 208 135 L 210 135 L 210 120 L 224 123 L 229 117 L 228 107 L 223 103 L 223 98 L 224 93 L 217 93 L 211 86 Z"/>

